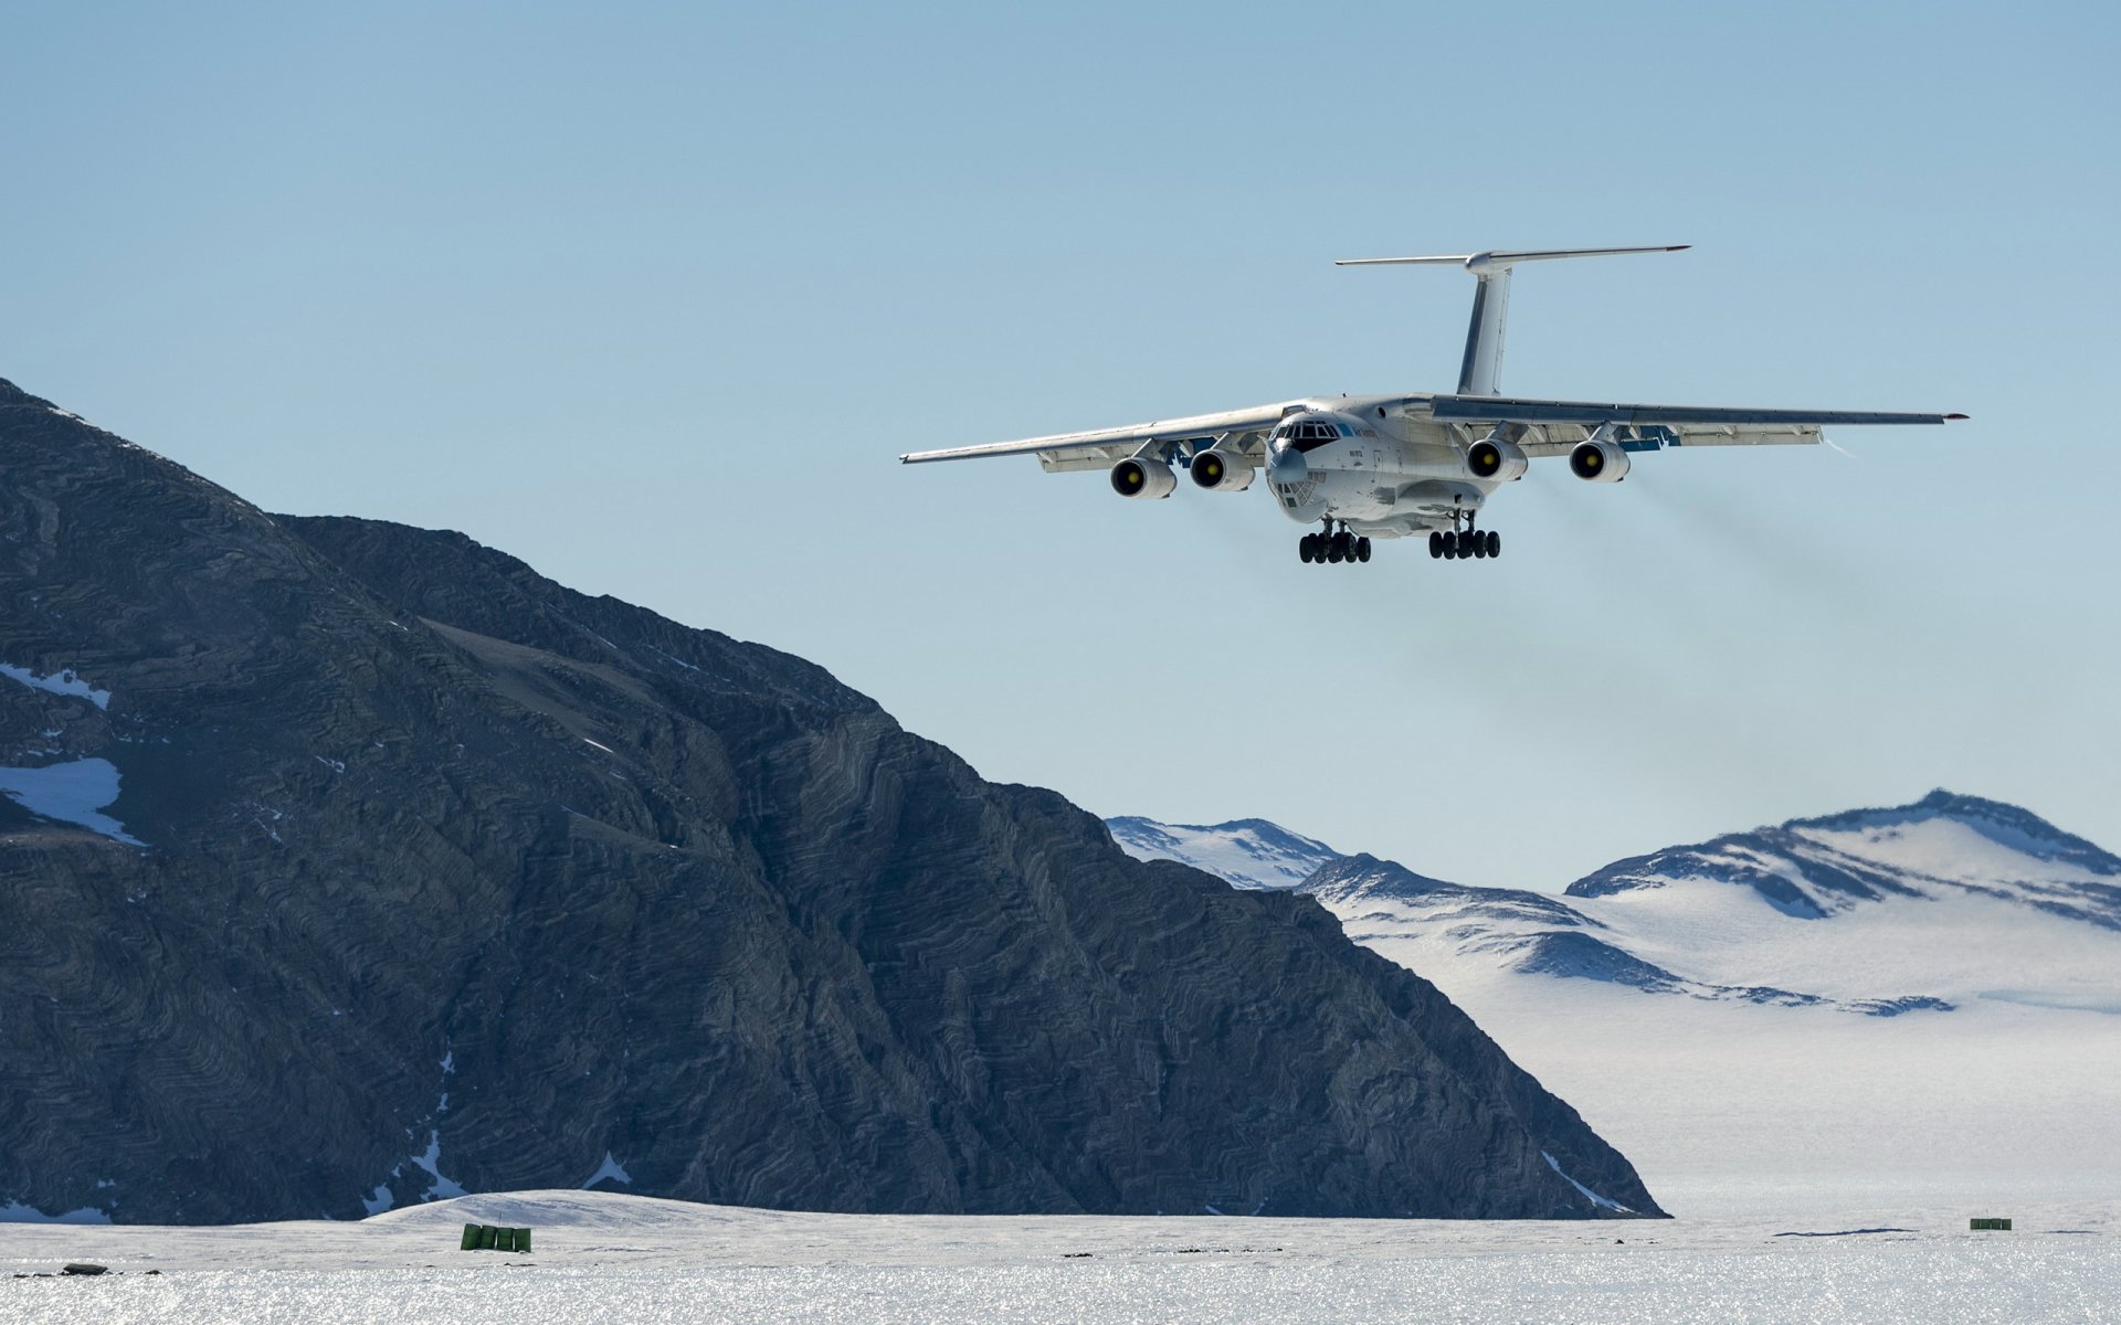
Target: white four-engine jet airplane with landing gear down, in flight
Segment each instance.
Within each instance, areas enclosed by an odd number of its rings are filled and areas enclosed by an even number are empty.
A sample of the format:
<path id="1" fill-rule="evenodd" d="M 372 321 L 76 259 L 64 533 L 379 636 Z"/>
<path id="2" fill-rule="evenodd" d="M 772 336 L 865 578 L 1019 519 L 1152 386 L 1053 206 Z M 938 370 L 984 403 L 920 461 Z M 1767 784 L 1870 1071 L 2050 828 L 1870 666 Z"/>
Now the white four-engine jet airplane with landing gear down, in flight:
<path id="1" fill-rule="evenodd" d="M 1338 267 L 1461 265 L 1474 276 L 1466 356 L 1451 394 L 1307 396 L 1254 409 L 993 445 L 912 452 L 904 464 L 1037 456 L 1046 473 L 1103 469 L 1124 498 L 1177 490 L 1184 469 L 1205 492 L 1243 492 L 1266 475 L 1266 492 L 1296 524 L 1317 532 L 1296 543 L 1304 562 L 1368 562 L 1372 538 L 1427 534 L 1430 555 L 1502 555 L 1502 536 L 1478 528 L 1487 498 L 1525 477 L 1531 460 L 1567 456 L 1587 483 L 1618 483 L 1631 456 L 1665 447 L 1818 443 L 1828 424 L 1943 424 L 1964 413 L 1864 413 L 1845 409 L 1729 409 L 1718 405 L 1625 405 L 1536 401 L 1497 390 L 1510 271 L 1519 263 L 1680 252 L 1648 248 L 1536 248 L 1406 259 L 1343 259 Z"/>

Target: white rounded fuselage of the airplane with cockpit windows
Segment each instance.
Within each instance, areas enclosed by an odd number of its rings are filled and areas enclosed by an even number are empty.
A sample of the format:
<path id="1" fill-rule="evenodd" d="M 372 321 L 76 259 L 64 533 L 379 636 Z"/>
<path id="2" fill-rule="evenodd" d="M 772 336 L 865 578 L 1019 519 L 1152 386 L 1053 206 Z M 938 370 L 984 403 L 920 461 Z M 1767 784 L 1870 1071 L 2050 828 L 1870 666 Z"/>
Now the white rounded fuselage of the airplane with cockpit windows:
<path id="1" fill-rule="evenodd" d="M 1393 401 L 1315 399 L 1283 418 L 1260 471 L 1275 507 L 1296 524 L 1332 519 L 1368 538 L 1404 538 L 1449 530 L 1487 505 L 1502 483 L 1466 473 L 1453 428 L 1396 418 L 1387 411 Z M 1319 439 L 1315 428 L 1334 437 Z"/>

